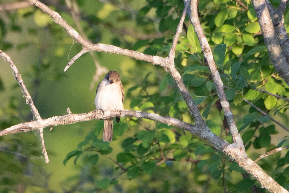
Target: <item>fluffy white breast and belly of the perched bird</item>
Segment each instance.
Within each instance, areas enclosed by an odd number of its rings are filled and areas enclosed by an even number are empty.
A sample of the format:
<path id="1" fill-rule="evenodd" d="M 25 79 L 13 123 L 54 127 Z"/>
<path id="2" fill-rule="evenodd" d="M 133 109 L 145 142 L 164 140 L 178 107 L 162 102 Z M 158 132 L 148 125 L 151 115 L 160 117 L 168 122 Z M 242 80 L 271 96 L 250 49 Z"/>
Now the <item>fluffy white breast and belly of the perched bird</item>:
<path id="1" fill-rule="evenodd" d="M 96 110 L 122 110 L 122 92 L 117 83 L 110 84 L 108 81 L 101 81 L 95 96 Z"/>

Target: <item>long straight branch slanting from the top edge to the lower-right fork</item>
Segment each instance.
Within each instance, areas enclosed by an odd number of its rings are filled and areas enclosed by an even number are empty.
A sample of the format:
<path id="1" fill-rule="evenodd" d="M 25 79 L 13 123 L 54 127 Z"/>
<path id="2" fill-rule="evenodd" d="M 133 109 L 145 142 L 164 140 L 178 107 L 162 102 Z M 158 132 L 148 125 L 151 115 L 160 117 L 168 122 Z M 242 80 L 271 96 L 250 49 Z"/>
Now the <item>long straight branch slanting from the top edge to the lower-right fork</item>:
<path id="1" fill-rule="evenodd" d="M 223 82 L 221 80 L 220 74 L 219 74 L 217 66 L 215 64 L 212 50 L 209 46 L 209 43 L 205 37 L 203 28 L 201 27 L 201 23 L 199 21 L 197 0 L 191 1 L 189 18 L 190 18 L 192 25 L 194 26 L 194 30 L 195 30 L 197 36 L 198 36 L 199 42 L 201 44 L 201 49 L 204 53 L 204 57 L 208 62 L 208 66 L 210 68 L 210 71 L 211 71 L 211 74 L 212 74 L 212 77 L 214 80 L 216 91 L 218 93 L 221 105 L 223 107 L 224 114 L 225 114 L 229 129 L 230 129 L 231 134 L 233 136 L 233 140 L 240 148 L 244 148 L 242 138 L 240 137 L 240 134 L 238 133 L 238 129 L 236 127 L 236 123 L 234 121 L 229 102 L 228 102 L 227 97 L 225 95 L 225 91 L 223 88 L 224 87 Z"/>

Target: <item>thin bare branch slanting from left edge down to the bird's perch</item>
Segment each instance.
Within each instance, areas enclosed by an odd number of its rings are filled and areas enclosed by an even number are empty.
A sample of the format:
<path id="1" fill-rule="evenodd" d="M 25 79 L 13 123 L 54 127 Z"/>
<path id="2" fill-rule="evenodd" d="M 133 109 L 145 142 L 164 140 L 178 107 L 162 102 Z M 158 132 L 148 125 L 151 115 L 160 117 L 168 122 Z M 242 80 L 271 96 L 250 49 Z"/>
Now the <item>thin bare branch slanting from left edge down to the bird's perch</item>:
<path id="1" fill-rule="evenodd" d="M 33 116 L 36 118 L 36 120 L 41 120 L 40 114 L 38 113 L 37 108 L 35 107 L 32 98 L 25 86 L 25 83 L 23 82 L 23 79 L 21 77 L 21 75 L 18 72 L 18 69 L 16 68 L 16 66 L 14 65 L 14 63 L 12 62 L 11 58 L 9 55 L 7 55 L 5 52 L 0 50 L 0 56 L 3 57 L 11 66 L 13 74 L 15 79 L 18 81 L 20 87 L 21 87 L 21 91 L 26 99 L 26 103 L 29 104 L 30 108 L 31 108 L 31 112 L 33 114 Z"/>

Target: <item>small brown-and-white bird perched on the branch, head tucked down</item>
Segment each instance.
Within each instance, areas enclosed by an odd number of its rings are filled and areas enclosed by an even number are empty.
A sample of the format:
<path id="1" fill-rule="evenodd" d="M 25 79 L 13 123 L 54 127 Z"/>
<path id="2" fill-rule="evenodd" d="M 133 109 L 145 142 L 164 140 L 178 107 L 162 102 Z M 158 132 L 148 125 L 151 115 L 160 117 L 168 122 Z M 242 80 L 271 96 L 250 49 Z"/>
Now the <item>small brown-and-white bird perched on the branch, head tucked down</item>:
<path id="1" fill-rule="evenodd" d="M 99 82 L 95 95 L 95 110 L 123 110 L 123 85 L 119 74 L 111 70 Z M 103 141 L 112 141 L 113 117 L 104 120 Z M 116 117 L 118 123 L 120 117 Z"/>

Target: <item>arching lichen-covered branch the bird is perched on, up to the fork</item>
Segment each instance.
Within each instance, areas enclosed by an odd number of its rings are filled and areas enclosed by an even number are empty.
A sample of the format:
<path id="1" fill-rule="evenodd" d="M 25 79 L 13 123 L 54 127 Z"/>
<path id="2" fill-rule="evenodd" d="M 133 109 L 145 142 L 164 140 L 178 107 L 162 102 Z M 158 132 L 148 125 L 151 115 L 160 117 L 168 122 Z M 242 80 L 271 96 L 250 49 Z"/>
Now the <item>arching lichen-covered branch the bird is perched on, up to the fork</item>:
<path id="1" fill-rule="evenodd" d="M 175 127 L 184 129 L 186 131 L 190 131 L 191 133 L 210 141 L 217 149 L 223 149 L 228 145 L 228 143 L 216 136 L 214 133 L 210 131 L 208 127 L 205 129 L 196 127 L 189 123 L 185 123 L 179 119 L 160 116 L 154 113 L 142 112 L 142 111 L 131 111 L 131 110 L 122 110 L 122 111 L 106 111 L 103 112 L 102 110 L 98 111 L 90 111 L 87 113 L 81 114 L 67 114 L 62 116 L 53 116 L 47 119 L 36 120 L 26 123 L 20 123 L 18 125 L 13 125 L 3 131 L 0 131 L 0 136 L 8 135 L 11 133 L 19 133 L 19 132 L 27 132 L 36 130 L 39 128 L 46 128 L 51 126 L 57 125 L 68 125 L 83 121 L 89 121 L 94 119 L 105 119 L 108 117 L 136 117 L 136 118 L 145 118 L 149 120 L 155 120 L 160 123 L 165 123 L 167 125 L 173 125 Z"/>

